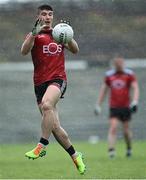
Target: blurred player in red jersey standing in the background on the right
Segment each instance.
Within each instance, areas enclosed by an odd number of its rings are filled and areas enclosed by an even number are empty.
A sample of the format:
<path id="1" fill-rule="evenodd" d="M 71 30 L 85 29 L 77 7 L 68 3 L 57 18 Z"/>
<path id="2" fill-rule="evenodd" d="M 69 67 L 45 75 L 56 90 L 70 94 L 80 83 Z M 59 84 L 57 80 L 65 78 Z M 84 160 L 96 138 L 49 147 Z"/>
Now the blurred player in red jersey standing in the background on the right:
<path id="1" fill-rule="evenodd" d="M 132 99 L 130 98 L 131 89 L 133 90 Z M 136 112 L 138 108 L 139 87 L 134 72 L 125 68 L 124 59 L 121 56 L 115 57 L 114 69 L 106 72 L 95 108 L 97 115 L 101 112 L 101 105 L 108 90 L 110 104 L 109 156 L 115 156 L 117 126 L 119 121 L 121 121 L 127 145 L 126 156 L 130 157 L 132 155 L 132 147 L 129 122 L 131 113 Z"/>

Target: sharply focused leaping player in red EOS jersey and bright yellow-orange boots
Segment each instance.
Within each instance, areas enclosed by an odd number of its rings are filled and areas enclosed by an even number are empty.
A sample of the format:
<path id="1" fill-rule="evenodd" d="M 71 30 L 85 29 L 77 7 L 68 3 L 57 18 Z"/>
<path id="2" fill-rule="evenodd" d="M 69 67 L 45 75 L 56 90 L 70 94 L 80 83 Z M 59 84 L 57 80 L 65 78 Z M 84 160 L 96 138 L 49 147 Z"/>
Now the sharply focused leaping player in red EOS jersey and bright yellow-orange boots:
<path id="1" fill-rule="evenodd" d="M 58 44 L 52 37 L 53 9 L 49 5 L 38 7 L 37 21 L 21 47 L 22 55 L 31 52 L 34 64 L 34 89 L 38 107 L 42 114 L 42 135 L 37 146 L 25 154 L 36 159 L 46 154 L 49 137 L 53 133 L 56 140 L 72 157 L 78 171 L 83 174 L 85 165 L 82 154 L 72 146 L 68 134 L 59 122 L 57 103 L 63 98 L 67 86 L 64 49 L 76 54 L 77 42 Z"/>

